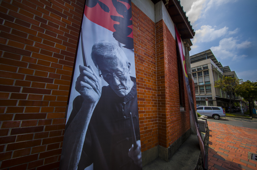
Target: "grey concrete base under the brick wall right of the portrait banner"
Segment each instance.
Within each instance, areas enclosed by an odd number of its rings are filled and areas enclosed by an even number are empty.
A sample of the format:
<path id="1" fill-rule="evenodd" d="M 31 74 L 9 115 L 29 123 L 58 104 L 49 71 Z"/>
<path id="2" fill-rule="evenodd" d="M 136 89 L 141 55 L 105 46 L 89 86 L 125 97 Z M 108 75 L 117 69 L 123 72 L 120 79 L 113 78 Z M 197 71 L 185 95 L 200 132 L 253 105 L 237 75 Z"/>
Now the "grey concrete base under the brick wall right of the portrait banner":
<path id="1" fill-rule="evenodd" d="M 164 148 L 162 146 L 155 146 L 152 149 L 148 149 L 142 152 L 142 164 L 143 166 L 152 162 L 157 158 L 161 158 L 166 162 L 172 157 L 172 155 L 179 149 L 179 147 L 187 140 L 187 138 L 191 135 L 191 129 L 189 129 L 186 133 L 184 133 L 179 139 L 173 142 L 168 148 Z"/>

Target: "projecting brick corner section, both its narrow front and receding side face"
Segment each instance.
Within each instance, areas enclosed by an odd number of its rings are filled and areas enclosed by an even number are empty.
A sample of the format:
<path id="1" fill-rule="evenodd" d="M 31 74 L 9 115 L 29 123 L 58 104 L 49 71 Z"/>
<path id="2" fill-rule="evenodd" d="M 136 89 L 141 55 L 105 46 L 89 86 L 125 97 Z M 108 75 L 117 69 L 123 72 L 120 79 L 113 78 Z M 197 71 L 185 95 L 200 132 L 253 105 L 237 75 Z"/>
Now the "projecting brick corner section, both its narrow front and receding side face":
<path id="1" fill-rule="evenodd" d="M 182 67 L 178 75 L 176 41 L 163 20 L 156 23 L 156 40 L 157 73 L 160 77 L 158 79 L 159 145 L 168 148 L 190 129 L 189 105 Z M 181 79 L 185 112 L 180 112 L 178 76 Z"/>

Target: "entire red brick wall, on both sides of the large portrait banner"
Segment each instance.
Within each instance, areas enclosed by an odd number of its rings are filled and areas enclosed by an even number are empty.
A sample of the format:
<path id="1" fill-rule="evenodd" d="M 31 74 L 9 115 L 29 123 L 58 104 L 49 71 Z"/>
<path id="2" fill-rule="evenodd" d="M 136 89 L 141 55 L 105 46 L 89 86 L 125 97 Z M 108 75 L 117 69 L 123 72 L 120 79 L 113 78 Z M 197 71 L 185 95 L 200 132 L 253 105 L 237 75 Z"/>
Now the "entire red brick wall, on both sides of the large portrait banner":
<path id="1" fill-rule="evenodd" d="M 0 2 L 0 169 L 58 169 L 84 2 Z M 190 127 L 175 39 L 134 4 L 132 21 L 142 151 L 168 147 Z"/>

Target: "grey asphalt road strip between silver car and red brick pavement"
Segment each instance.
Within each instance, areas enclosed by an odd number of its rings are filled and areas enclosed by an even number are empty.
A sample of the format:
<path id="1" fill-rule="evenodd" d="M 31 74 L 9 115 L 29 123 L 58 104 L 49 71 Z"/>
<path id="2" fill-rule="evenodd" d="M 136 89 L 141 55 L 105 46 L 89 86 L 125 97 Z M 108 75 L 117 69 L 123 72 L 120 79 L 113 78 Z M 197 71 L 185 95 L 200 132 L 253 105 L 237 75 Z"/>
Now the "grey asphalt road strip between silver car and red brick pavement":
<path id="1" fill-rule="evenodd" d="M 253 118 L 251 119 L 242 119 L 242 118 L 232 118 L 232 117 L 226 117 L 226 118 L 220 118 L 219 120 L 215 120 L 213 118 L 208 118 L 207 122 L 217 122 L 217 123 L 223 123 L 223 124 L 229 124 L 233 126 L 239 126 L 244 128 L 251 128 L 251 129 L 257 129 L 257 119 Z"/>

